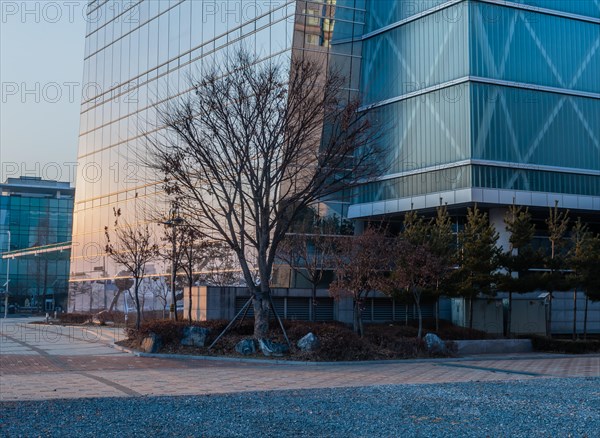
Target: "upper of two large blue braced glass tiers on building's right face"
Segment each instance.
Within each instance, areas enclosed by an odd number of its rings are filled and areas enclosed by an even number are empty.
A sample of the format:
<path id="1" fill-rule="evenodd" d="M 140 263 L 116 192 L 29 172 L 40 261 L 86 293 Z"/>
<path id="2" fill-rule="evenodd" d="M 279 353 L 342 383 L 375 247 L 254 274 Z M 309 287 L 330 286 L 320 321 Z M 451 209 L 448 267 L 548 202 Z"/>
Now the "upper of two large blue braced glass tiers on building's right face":
<path id="1" fill-rule="evenodd" d="M 472 76 L 600 93 L 600 24 L 479 2 L 469 17 Z"/>

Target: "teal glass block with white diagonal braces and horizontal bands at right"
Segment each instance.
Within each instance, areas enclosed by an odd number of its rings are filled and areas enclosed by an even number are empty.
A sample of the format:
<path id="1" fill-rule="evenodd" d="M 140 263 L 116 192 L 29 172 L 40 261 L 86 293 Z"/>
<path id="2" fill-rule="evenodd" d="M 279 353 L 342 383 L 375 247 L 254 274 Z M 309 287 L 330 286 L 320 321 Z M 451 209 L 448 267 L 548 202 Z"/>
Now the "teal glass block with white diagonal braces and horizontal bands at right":
<path id="1" fill-rule="evenodd" d="M 361 91 L 386 122 L 389 170 L 350 216 L 462 189 L 600 209 L 599 78 L 600 2 L 367 1 Z"/>

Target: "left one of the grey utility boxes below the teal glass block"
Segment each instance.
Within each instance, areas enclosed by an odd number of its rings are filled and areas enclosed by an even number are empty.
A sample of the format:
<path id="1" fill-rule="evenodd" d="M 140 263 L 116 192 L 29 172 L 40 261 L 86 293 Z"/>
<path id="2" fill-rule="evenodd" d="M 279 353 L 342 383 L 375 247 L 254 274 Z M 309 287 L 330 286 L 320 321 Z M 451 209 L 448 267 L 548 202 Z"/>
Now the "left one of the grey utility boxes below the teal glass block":
<path id="1" fill-rule="evenodd" d="M 452 298 L 452 324 L 469 327 L 470 300 Z M 473 328 L 491 335 L 504 334 L 502 299 L 475 298 L 473 301 Z"/>

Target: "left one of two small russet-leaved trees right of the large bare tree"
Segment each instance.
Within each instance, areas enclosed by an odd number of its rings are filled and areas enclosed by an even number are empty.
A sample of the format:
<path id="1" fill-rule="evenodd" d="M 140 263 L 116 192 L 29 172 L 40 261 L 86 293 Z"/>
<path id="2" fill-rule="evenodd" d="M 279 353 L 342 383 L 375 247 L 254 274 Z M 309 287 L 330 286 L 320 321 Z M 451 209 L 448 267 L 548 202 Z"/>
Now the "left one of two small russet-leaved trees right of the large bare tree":
<path id="1" fill-rule="evenodd" d="M 389 271 L 390 242 L 385 234 L 369 227 L 359 236 L 338 239 L 333 257 L 335 280 L 329 286 L 336 298 L 351 297 L 353 301 L 353 329 L 364 334 L 362 307 L 371 292 L 385 286 Z"/>

